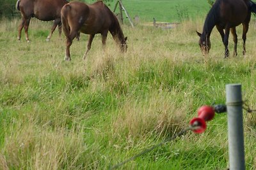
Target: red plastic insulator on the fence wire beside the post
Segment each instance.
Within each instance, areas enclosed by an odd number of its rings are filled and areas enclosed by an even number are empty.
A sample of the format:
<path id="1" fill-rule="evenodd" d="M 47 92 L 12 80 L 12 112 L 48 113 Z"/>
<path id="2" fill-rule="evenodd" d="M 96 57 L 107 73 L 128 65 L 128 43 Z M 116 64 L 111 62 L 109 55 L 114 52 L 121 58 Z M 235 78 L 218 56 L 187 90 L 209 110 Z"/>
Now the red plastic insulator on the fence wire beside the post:
<path id="1" fill-rule="evenodd" d="M 202 106 L 198 109 L 198 117 L 193 118 L 189 124 L 197 127 L 192 131 L 195 133 L 202 133 L 206 129 L 206 121 L 212 120 L 214 117 L 214 108 L 212 106 Z"/>

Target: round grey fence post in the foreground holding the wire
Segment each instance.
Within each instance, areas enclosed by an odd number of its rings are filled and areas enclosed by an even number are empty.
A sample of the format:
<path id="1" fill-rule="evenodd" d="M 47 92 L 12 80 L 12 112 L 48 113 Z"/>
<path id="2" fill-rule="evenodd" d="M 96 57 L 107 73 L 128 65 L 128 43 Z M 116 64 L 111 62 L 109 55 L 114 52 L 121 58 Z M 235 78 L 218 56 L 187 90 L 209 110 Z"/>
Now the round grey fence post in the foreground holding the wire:
<path id="1" fill-rule="evenodd" d="M 240 84 L 226 85 L 230 170 L 244 170 L 243 100 Z"/>

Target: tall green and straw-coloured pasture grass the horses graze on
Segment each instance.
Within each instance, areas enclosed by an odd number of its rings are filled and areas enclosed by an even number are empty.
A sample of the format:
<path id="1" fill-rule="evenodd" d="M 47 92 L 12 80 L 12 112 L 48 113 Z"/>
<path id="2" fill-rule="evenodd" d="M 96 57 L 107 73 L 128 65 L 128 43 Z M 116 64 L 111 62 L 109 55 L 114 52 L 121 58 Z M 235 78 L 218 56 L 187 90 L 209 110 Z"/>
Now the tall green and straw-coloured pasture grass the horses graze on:
<path id="1" fill-rule="evenodd" d="M 124 1 L 125 3 L 125 1 Z M 128 4 L 127 4 L 128 7 Z M 164 18 L 163 18 L 164 19 Z M 31 20 L 30 43 L 19 20 L 0 22 L 0 169 L 108 169 L 188 127 L 202 105 L 225 103 L 225 85 L 241 83 L 243 99 L 256 108 L 256 39 L 252 20 L 242 54 L 224 59 L 216 29 L 203 56 L 196 30 L 204 17 L 176 29 L 123 25 L 128 51 L 109 34 L 102 50 L 95 36 L 70 47 L 51 22 Z M 230 38 L 230 52 L 232 52 Z M 255 113 L 244 112 L 246 169 L 256 168 Z M 203 134 L 188 132 L 119 169 L 225 169 L 227 115 L 216 115 Z"/>

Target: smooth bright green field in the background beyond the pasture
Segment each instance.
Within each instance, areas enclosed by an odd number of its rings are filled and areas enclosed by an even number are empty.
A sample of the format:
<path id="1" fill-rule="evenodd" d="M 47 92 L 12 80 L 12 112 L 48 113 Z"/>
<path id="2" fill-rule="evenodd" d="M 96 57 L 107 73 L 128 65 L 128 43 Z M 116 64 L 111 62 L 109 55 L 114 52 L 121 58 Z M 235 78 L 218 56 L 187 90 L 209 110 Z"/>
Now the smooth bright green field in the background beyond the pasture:
<path id="1" fill-rule="evenodd" d="M 93 3 L 94 1 L 87 0 L 85 2 Z M 144 22 L 153 22 L 153 18 L 161 22 L 180 22 L 184 19 L 196 19 L 205 17 L 210 9 L 207 0 L 122 0 L 122 2 L 131 18 L 138 15 L 140 20 Z M 115 3 L 116 0 L 109 3 L 112 10 Z M 117 8 L 116 12 L 118 11 Z"/>

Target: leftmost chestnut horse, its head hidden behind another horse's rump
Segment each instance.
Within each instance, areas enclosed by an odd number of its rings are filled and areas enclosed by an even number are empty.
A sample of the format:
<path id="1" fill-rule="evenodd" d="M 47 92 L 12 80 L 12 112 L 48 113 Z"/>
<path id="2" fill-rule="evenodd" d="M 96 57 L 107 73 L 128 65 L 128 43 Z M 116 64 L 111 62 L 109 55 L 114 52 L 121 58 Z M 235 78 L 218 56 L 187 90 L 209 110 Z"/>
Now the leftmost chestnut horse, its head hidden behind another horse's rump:
<path id="1" fill-rule="evenodd" d="M 61 35 L 60 11 L 64 4 L 67 3 L 68 1 L 66 0 L 18 0 L 16 9 L 19 10 L 22 15 L 22 21 L 19 25 L 18 39 L 20 40 L 20 34 L 24 27 L 26 40 L 29 42 L 28 27 L 31 17 L 43 21 L 54 20 L 47 41 L 51 39 L 52 32 L 56 29 L 57 25 L 59 26 L 59 34 Z"/>

